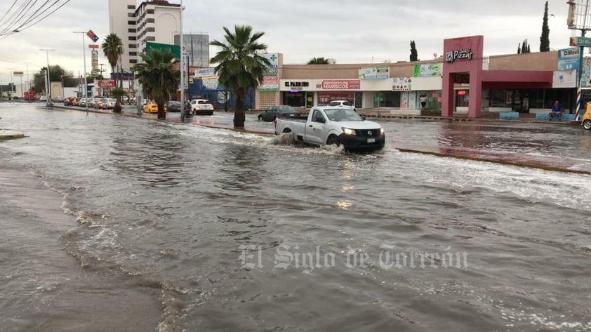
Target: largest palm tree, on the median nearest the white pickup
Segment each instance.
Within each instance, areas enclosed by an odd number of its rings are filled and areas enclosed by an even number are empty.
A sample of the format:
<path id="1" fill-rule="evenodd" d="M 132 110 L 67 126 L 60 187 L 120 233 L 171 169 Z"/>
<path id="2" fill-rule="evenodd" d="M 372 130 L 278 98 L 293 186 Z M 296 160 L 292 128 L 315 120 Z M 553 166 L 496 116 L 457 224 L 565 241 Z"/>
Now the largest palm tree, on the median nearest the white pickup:
<path id="1" fill-rule="evenodd" d="M 218 74 L 218 81 L 227 90 L 234 91 L 236 107 L 234 108 L 234 128 L 244 128 L 244 99 L 249 89 L 256 89 L 263 84 L 263 75 L 271 61 L 260 55 L 267 50 L 267 45 L 260 44 L 258 39 L 265 32 L 253 33 L 249 25 L 234 26 L 234 33 L 224 27 L 226 43 L 218 40 L 210 44 L 219 46 L 219 51 L 212 63 L 218 63 L 214 72 Z"/>

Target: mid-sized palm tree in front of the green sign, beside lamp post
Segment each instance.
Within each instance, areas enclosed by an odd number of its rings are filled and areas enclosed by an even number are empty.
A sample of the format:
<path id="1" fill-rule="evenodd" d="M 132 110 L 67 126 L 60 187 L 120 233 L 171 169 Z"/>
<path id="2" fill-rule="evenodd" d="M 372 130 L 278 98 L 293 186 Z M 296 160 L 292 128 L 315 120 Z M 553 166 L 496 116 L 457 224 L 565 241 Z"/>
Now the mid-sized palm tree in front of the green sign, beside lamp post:
<path id="1" fill-rule="evenodd" d="M 131 70 L 142 85 L 144 95 L 158 105 L 158 119 L 166 119 L 164 104 L 176 93 L 180 81 L 180 72 L 174 69 L 175 55 L 170 48 L 152 48 L 148 53 L 142 53 L 141 57 L 143 62 L 134 65 Z"/>

